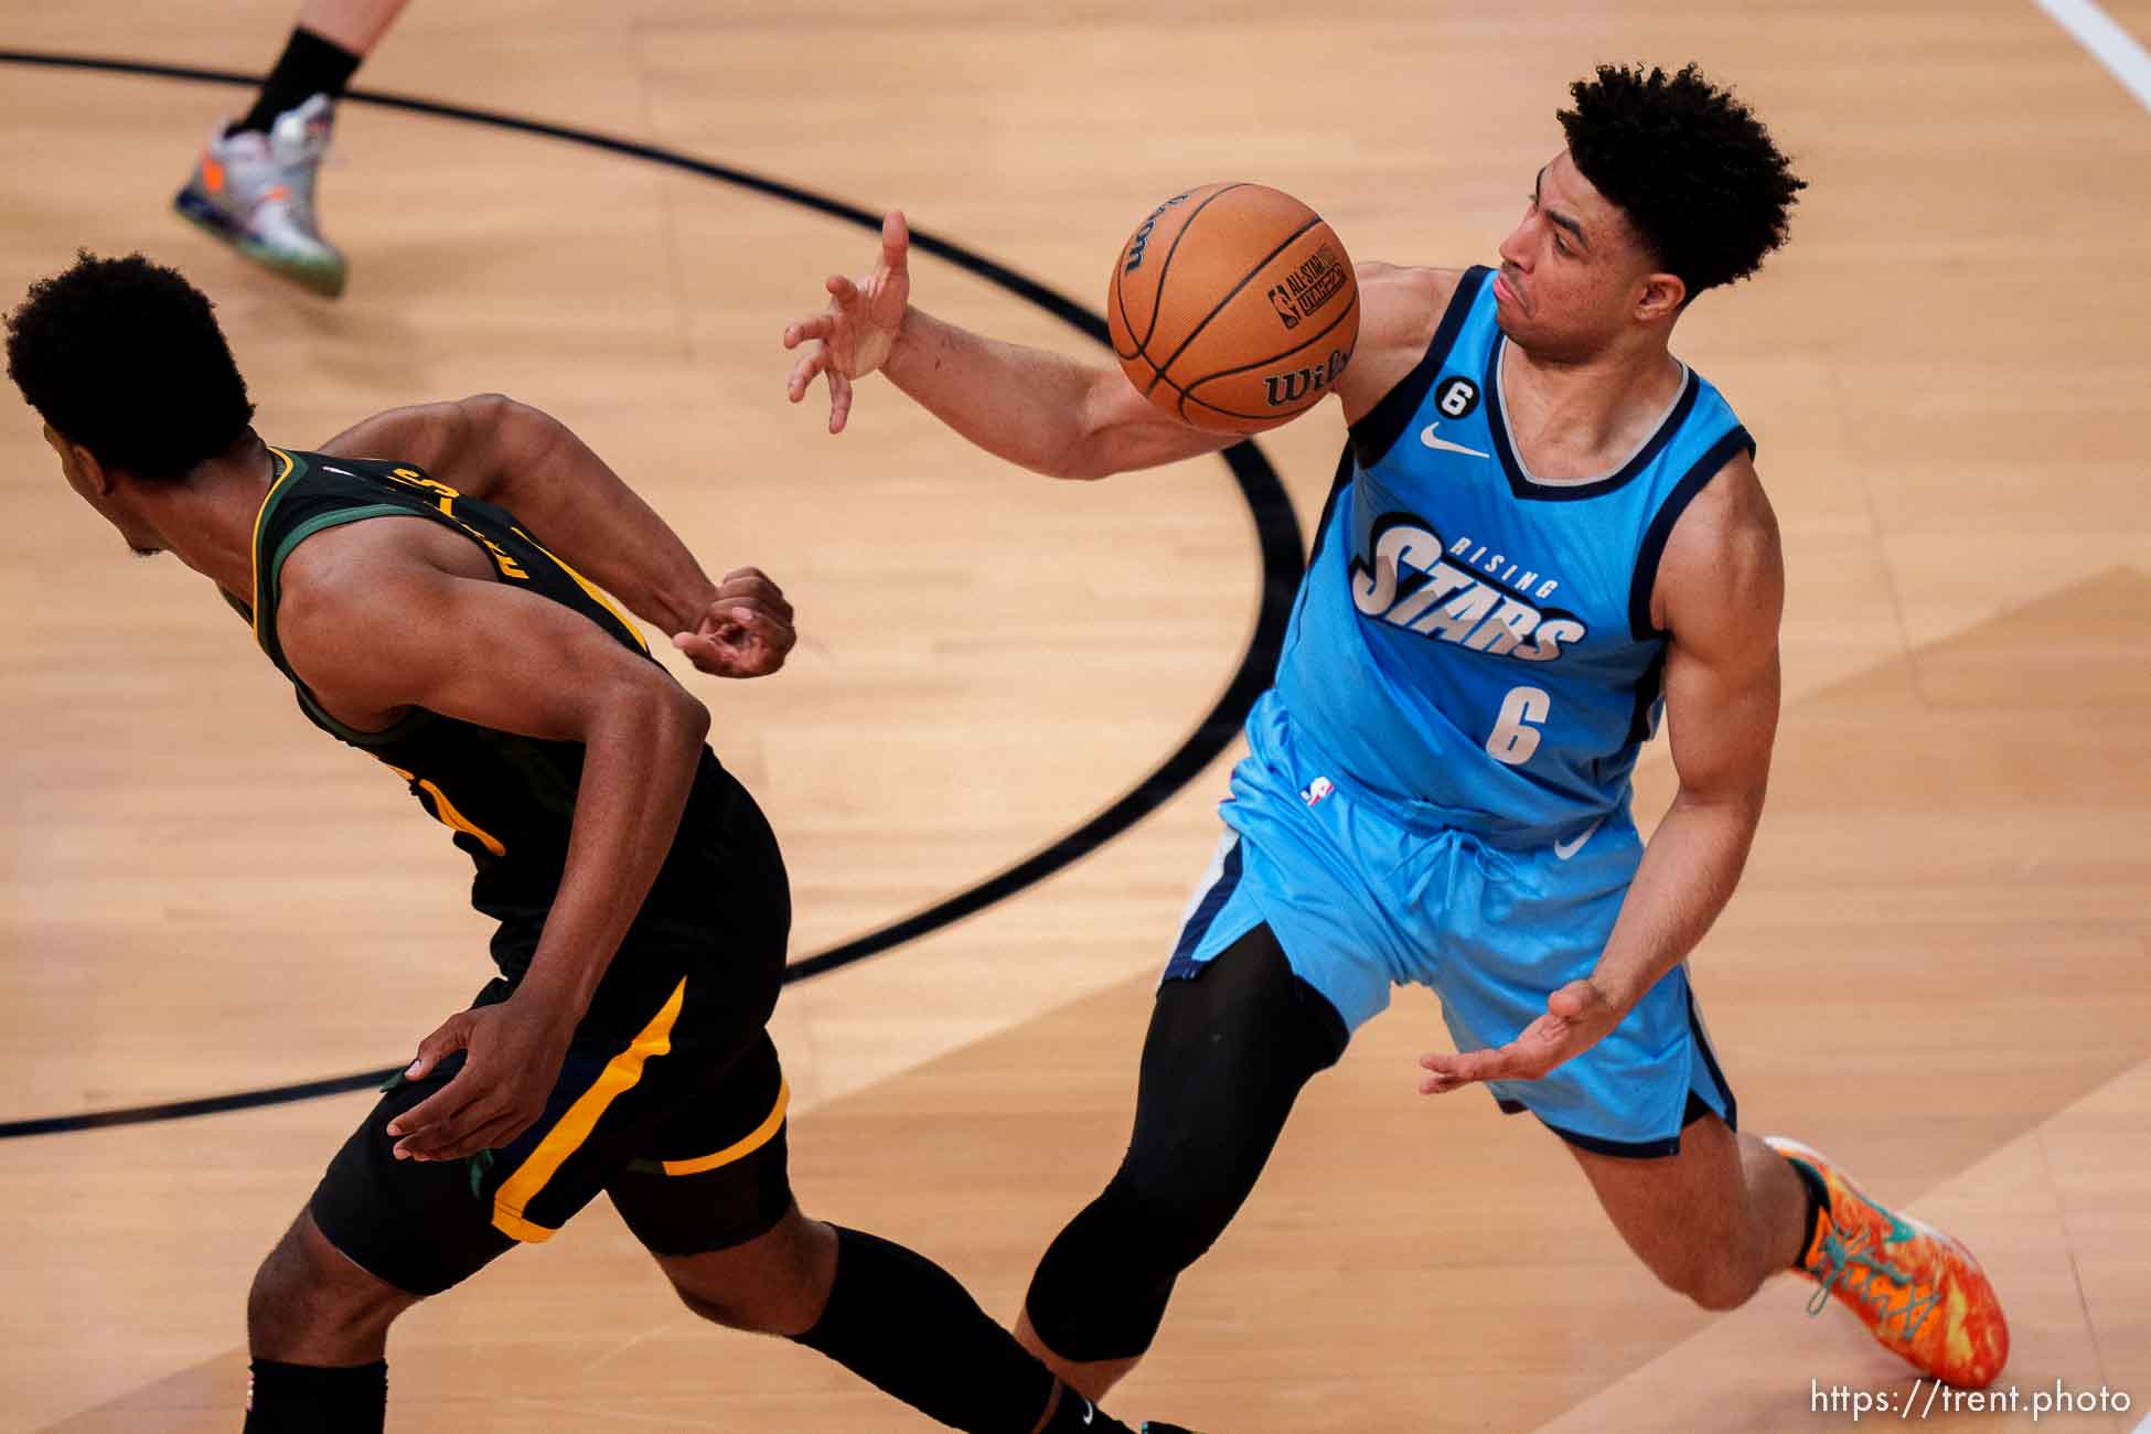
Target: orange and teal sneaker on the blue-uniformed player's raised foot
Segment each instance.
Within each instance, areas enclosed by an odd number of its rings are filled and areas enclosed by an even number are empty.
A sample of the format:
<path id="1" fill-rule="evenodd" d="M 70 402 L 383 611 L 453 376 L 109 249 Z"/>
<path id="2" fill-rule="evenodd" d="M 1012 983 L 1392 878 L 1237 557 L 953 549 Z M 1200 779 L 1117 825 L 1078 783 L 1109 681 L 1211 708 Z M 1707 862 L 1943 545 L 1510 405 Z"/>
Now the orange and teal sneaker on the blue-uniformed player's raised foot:
<path id="1" fill-rule="evenodd" d="M 1837 1296 L 1876 1344 L 1921 1374 L 1960 1389 L 1985 1389 L 2009 1363 L 2009 1320 L 1988 1273 L 1964 1245 L 1934 1225 L 1876 1204 L 1818 1150 L 1766 1137 L 1831 1195 L 1800 1256 L 1815 1281 L 1809 1314 Z"/>

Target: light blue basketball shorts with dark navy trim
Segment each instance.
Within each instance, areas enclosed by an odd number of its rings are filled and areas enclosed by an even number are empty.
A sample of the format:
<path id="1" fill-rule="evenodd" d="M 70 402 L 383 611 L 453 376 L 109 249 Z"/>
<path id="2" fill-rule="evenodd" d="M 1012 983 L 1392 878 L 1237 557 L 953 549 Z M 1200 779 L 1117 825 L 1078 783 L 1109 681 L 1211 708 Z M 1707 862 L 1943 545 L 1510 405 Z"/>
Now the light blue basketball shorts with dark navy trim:
<path id="1" fill-rule="evenodd" d="M 1269 924 L 1293 974 L 1357 1030 L 1392 985 L 1441 998 L 1456 1049 L 1508 1045 L 1547 1013 L 1547 995 L 1590 976 L 1635 879 L 1643 841 L 1613 813 L 1581 843 L 1504 849 L 1456 828 L 1418 828 L 1394 806 L 1331 783 L 1293 752 L 1233 770 L 1226 836 L 1181 922 L 1166 980 Z M 1316 780 L 1321 778 L 1321 780 Z M 1564 856 L 1566 854 L 1566 856 Z M 1529 1109 L 1600 1155 L 1680 1150 L 1704 1109 L 1736 1124 L 1689 991 L 1673 967 L 1598 1045 L 1536 1081 L 1488 1081 L 1501 1109 Z"/>

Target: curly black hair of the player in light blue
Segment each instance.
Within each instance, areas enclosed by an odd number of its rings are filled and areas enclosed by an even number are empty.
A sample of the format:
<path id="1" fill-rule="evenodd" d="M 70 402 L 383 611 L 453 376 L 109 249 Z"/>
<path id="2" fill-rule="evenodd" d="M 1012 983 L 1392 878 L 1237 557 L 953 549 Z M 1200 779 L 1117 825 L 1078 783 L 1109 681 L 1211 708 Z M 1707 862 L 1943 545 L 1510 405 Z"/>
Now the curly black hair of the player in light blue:
<path id="1" fill-rule="evenodd" d="M 1678 75 L 1600 64 L 1568 86 L 1568 155 L 1628 215 L 1689 297 L 1744 279 L 1785 243 L 1807 181 L 1744 103 L 1691 62 Z"/>

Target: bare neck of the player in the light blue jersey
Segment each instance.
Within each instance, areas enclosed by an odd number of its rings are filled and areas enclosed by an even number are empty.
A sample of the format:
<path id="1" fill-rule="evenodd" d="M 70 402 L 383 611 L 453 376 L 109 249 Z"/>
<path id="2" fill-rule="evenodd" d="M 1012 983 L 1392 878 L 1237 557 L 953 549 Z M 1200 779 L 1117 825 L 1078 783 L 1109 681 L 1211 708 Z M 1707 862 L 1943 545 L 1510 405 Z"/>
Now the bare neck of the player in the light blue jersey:
<path id="1" fill-rule="evenodd" d="M 1497 378 L 1516 443 L 1527 458 L 1544 458 L 1544 469 L 1532 464 L 1536 473 L 1555 479 L 1594 475 L 1633 451 L 1680 396 L 1686 368 L 1663 338 L 1583 357 L 1534 355 L 1510 342 Z"/>

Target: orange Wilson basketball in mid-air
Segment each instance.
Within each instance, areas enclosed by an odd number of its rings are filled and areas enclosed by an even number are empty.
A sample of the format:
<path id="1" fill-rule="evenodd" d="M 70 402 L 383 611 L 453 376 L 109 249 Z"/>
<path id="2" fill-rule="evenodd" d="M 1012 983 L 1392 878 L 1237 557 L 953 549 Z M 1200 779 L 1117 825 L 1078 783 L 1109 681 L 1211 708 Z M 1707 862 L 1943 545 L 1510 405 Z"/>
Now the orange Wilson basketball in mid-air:
<path id="1" fill-rule="evenodd" d="M 1106 295 L 1127 381 L 1183 424 L 1263 432 L 1323 400 L 1359 340 L 1359 284 L 1323 217 L 1267 185 L 1174 193 Z"/>

